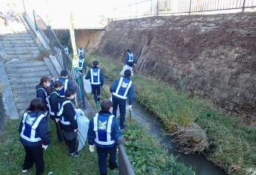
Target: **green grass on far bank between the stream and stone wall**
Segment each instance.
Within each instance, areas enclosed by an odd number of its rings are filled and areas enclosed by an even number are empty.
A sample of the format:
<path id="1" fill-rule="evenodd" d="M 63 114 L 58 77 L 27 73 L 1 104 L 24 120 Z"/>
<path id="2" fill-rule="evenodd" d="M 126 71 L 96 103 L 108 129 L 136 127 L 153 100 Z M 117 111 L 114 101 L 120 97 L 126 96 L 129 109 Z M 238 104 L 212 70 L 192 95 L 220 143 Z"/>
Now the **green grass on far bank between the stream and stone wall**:
<path id="1" fill-rule="evenodd" d="M 111 80 L 120 77 L 123 68 L 120 63 L 98 57 L 94 52 L 85 59 L 87 65 L 98 60 L 99 67 Z M 256 174 L 256 130 L 241 124 L 238 116 L 229 117 L 208 109 L 204 103 L 198 103 L 196 96 L 177 93 L 167 83 L 136 74 L 131 79 L 136 100 L 161 118 L 170 133 L 173 122 L 186 125 L 195 121 L 207 133 L 210 161 L 229 174 Z"/>

